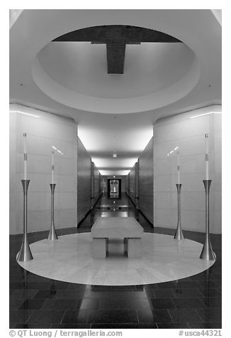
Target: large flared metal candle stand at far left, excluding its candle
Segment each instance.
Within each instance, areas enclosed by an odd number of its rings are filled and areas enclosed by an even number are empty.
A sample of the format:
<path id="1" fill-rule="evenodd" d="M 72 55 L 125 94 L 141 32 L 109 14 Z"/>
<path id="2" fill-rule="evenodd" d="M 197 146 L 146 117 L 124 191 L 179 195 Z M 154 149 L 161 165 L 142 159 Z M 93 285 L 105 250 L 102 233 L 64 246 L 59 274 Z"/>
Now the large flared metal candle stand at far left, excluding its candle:
<path id="1" fill-rule="evenodd" d="M 28 244 L 27 238 L 27 192 L 30 180 L 21 180 L 23 185 L 23 243 L 21 245 L 21 249 L 17 256 L 17 261 L 26 262 L 31 261 L 33 256 L 30 251 L 30 246 Z"/>

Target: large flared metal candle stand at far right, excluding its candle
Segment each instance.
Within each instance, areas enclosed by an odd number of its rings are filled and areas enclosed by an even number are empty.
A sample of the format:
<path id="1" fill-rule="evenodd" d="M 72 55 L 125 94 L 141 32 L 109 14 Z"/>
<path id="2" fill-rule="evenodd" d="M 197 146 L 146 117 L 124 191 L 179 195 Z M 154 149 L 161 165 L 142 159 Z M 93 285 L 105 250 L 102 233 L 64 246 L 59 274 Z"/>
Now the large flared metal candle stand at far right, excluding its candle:
<path id="1" fill-rule="evenodd" d="M 212 180 L 203 180 L 205 186 L 205 244 L 201 251 L 201 259 L 206 261 L 215 261 L 215 254 L 213 252 L 210 243 L 210 232 L 209 232 L 209 190 Z"/>

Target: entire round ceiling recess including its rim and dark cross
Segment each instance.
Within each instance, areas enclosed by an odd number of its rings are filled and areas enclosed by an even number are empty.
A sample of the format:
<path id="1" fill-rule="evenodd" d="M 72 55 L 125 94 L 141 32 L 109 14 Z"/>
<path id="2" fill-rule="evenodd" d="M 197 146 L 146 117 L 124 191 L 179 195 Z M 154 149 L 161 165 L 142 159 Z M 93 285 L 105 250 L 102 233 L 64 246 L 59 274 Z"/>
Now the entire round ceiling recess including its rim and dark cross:
<path id="1" fill-rule="evenodd" d="M 153 29 L 108 25 L 53 39 L 33 62 L 33 79 L 49 97 L 108 114 L 149 111 L 186 96 L 200 76 L 181 40 Z"/>

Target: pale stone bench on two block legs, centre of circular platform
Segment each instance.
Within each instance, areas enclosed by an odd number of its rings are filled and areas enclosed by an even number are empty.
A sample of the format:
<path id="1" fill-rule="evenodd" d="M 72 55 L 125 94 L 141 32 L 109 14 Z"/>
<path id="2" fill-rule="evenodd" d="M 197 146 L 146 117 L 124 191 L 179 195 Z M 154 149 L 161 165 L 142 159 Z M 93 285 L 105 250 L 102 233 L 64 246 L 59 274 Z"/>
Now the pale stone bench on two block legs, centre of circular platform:
<path id="1" fill-rule="evenodd" d="M 98 217 L 91 227 L 92 256 L 106 258 L 108 241 L 124 239 L 129 258 L 141 257 L 141 238 L 144 229 L 134 217 Z"/>

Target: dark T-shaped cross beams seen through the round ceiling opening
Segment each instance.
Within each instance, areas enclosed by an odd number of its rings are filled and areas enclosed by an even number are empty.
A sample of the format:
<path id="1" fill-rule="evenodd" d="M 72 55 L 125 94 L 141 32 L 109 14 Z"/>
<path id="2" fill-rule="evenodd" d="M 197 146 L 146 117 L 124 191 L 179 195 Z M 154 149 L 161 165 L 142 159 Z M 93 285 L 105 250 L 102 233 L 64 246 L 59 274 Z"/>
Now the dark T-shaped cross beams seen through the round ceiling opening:
<path id="1" fill-rule="evenodd" d="M 89 41 L 92 44 L 106 44 L 108 74 L 123 74 L 126 45 L 148 43 L 181 43 L 166 33 L 135 26 L 110 25 L 82 28 L 53 40 Z"/>

